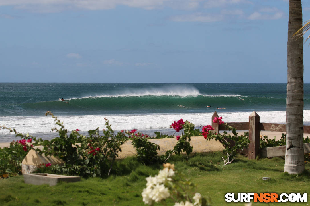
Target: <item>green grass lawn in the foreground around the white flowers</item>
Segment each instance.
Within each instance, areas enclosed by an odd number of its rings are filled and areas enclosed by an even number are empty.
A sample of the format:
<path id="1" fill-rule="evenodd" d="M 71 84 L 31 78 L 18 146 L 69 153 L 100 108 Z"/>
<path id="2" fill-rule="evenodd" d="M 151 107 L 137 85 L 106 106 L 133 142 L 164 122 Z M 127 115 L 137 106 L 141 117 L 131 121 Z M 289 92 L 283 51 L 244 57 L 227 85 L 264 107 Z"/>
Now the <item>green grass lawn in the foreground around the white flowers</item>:
<path id="1" fill-rule="evenodd" d="M 223 168 L 221 152 L 171 156 L 178 172 L 197 184 L 197 192 L 210 197 L 212 205 L 226 203 L 226 193 L 307 193 L 310 191 L 310 163 L 301 175 L 283 173 L 284 159 L 248 160 L 239 157 Z M 23 176 L 0 180 L 0 205 L 144 205 L 141 192 L 145 178 L 156 175 L 161 165 L 145 166 L 128 157 L 117 161 L 113 175 L 106 179 L 88 178 L 81 182 L 61 182 L 56 186 L 29 185 Z M 263 177 L 271 178 L 268 181 Z M 309 199 L 307 196 L 307 200 Z M 308 200 L 310 202 L 310 200 Z M 173 205 L 167 202 L 167 205 Z M 308 203 L 253 203 L 252 205 L 307 205 Z"/>

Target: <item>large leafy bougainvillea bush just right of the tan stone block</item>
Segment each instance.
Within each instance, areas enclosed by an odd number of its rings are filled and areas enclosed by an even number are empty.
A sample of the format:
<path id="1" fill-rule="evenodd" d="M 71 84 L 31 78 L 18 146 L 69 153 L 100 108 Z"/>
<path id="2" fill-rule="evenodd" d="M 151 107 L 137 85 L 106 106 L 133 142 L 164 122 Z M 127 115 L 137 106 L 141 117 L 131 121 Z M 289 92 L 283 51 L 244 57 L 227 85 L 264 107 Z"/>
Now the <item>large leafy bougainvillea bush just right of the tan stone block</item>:
<path id="1" fill-rule="evenodd" d="M 120 146 L 126 141 L 124 132 L 114 134 L 111 125 L 105 119 L 104 135 L 100 135 L 97 128 L 88 131 L 88 137 L 79 134 L 78 129 L 67 136 L 63 123 L 49 111 L 46 115 L 51 115 L 55 119 L 55 124 L 60 126 L 52 128 L 53 131 L 58 131 L 59 137 L 44 144 L 42 151 L 37 151 L 57 156 L 65 161 L 64 165 L 53 166 L 54 172 L 82 177 L 102 177 L 107 171 L 108 175 L 110 174 L 113 162 L 118 156 L 117 152 L 121 151 Z"/>

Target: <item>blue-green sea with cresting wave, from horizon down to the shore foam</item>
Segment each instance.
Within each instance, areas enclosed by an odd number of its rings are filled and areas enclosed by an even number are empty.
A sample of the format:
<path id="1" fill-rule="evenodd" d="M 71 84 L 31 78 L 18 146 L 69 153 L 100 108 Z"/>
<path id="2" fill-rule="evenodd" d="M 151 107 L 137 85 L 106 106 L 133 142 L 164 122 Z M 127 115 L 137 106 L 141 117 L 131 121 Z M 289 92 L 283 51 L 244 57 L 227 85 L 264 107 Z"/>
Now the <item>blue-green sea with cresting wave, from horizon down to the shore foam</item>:
<path id="1" fill-rule="evenodd" d="M 58 101 L 63 97 L 69 104 Z M 206 107 L 210 106 L 210 107 Z M 201 113 L 286 109 L 286 84 L 2 83 L 0 116 Z M 304 85 L 310 109 L 310 84 Z"/>

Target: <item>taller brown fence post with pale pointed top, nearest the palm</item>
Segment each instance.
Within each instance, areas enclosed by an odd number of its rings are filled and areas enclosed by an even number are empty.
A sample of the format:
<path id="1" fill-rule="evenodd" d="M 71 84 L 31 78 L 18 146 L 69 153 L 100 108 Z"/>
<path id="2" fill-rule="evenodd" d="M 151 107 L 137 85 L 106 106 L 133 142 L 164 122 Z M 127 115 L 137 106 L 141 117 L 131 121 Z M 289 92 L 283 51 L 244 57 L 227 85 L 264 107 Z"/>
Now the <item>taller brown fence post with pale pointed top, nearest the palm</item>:
<path id="1" fill-rule="evenodd" d="M 249 159 L 259 154 L 259 115 L 253 111 L 249 116 Z"/>

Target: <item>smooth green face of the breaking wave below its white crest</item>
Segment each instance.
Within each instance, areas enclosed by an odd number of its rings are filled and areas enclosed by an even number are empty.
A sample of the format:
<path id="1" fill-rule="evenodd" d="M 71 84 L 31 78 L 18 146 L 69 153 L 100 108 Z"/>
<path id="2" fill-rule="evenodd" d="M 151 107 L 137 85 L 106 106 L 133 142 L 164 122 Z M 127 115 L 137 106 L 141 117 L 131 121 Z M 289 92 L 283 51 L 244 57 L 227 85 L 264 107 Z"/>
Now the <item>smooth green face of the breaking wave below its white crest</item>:
<path id="1" fill-rule="evenodd" d="M 242 96 L 124 96 L 124 97 L 87 97 L 73 98 L 62 101 L 44 101 L 38 103 L 24 103 L 21 108 L 29 111 L 46 110 L 61 113 L 149 113 L 149 112 L 209 112 L 211 108 L 225 108 L 227 110 L 253 110 L 285 108 L 286 100 L 268 97 Z M 210 107 L 207 107 L 210 106 Z"/>

